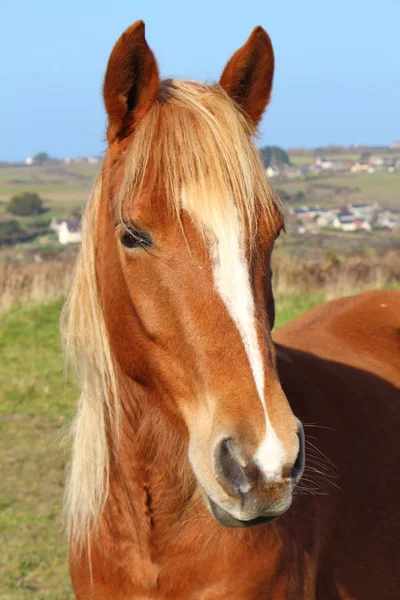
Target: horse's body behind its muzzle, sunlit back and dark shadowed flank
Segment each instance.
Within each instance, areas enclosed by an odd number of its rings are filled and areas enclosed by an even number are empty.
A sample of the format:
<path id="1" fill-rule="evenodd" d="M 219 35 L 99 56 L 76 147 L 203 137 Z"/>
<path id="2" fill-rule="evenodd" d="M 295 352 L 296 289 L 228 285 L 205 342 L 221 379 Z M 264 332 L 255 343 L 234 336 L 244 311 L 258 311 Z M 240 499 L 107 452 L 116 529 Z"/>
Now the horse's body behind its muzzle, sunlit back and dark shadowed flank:
<path id="1" fill-rule="evenodd" d="M 394 600 L 400 294 L 327 302 L 289 323 L 275 341 L 283 389 L 308 439 L 303 485 L 313 495 L 309 527 L 319 540 L 316 597 Z M 310 508 L 305 498 L 294 502 L 294 513 Z"/>

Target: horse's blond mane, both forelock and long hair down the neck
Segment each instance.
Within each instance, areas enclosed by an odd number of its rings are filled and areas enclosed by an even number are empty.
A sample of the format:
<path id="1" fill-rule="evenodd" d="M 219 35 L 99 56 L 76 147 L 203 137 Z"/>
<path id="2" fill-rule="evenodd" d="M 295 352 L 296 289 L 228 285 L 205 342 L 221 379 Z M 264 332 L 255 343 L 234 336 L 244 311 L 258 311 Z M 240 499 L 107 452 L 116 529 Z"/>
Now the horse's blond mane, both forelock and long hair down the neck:
<path id="1" fill-rule="evenodd" d="M 239 217 L 251 242 L 260 212 L 276 227 L 276 199 L 250 136 L 247 120 L 219 86 L 164 81 L 158 101 L 132 135 L 117 198 L 121 221 L 146 182 L 163 185 L 178 221 L 184 207 L 205 236 L 234 227 Z M 106 502 L 120 422 L 116 370 L 96 280 L 101 187 L 100 175 L 85 209 L 82 247 L 62 316 L 66 356 L 81 387 L 65 502 L 69 535 L 77 545 L 88 540 Z"/>

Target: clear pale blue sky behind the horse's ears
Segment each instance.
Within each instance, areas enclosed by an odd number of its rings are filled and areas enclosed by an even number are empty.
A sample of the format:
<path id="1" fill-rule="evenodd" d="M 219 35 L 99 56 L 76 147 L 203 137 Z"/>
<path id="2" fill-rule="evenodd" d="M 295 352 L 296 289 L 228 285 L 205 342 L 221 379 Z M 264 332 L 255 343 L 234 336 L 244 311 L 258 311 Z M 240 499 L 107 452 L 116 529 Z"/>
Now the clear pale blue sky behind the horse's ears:
<path id="1" fill-rule="evenodd" d="M 0 160 L 104 151 L 105 65 L 137 19 L 162 75 L 203 81 L 265 27 L 276 77 L 262 144 L 400 138 L 400 0 L 0 0 Z"/>

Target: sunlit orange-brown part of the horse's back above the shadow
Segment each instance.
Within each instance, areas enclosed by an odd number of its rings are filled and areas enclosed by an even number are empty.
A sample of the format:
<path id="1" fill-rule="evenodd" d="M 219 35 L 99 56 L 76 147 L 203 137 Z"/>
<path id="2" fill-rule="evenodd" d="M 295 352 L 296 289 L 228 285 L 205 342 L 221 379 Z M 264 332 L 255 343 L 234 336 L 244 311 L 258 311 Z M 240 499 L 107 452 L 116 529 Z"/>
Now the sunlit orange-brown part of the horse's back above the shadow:
<path id="1" fill-rule="evenodd" d="M 274 339 L 400 385 L 399 292 L 370 291 L 331 300 L 291 321 Z"/>

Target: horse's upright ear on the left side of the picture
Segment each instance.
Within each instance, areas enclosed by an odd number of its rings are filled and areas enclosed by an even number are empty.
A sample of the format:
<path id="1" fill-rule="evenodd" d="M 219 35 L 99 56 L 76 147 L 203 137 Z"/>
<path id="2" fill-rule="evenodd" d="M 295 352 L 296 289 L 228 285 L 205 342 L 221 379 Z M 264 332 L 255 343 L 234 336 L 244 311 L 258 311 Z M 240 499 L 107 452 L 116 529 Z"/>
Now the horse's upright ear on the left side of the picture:
<path id="1" fill-rule="evenodd" d="M 147 45 L 144 23 L 137 21 L 121 35 L 108 60 L 103 96 L 109 143 L 133 131 L 156 100 L 159 85 L 157 62 Z"/>

